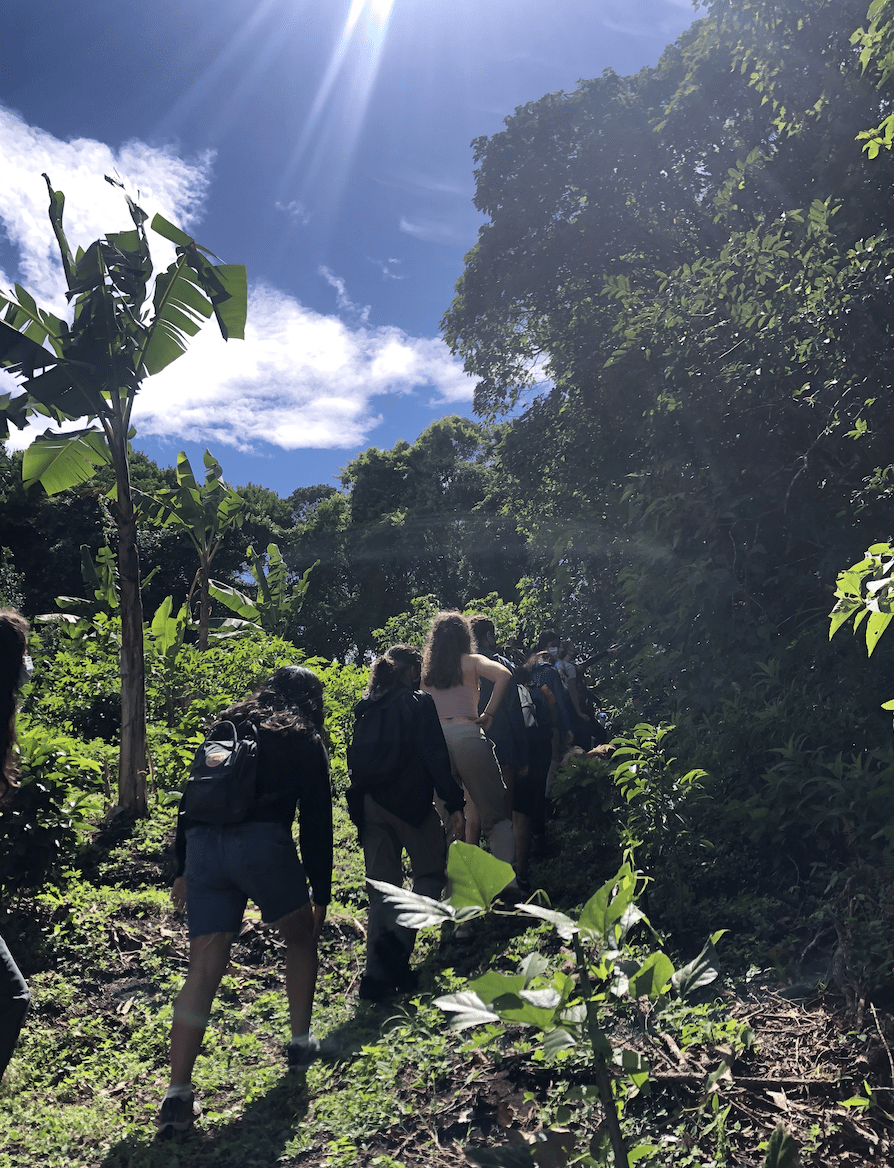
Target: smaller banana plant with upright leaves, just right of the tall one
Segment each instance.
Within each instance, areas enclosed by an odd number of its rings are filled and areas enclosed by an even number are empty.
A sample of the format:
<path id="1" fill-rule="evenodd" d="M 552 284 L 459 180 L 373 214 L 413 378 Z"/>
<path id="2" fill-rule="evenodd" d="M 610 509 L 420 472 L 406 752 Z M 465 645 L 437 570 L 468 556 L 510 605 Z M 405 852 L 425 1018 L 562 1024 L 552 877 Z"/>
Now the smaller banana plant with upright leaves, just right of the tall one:
<path id="1" fill-rule="evenodd" d="M 193 595 L 199 589 L 199 648 L 208 648 L 212 614 L 210 566 L 229 530 L 240 527 L 245 500 L 223 481 L 223 470 L 210 451 L 205 452 L 205 482 L 199 482 L 183 451 L 176 456 L 176 487 L 145 495 L 151 522 L 186 531 L 199 557 L 186 598 L 192 612 Z"/>

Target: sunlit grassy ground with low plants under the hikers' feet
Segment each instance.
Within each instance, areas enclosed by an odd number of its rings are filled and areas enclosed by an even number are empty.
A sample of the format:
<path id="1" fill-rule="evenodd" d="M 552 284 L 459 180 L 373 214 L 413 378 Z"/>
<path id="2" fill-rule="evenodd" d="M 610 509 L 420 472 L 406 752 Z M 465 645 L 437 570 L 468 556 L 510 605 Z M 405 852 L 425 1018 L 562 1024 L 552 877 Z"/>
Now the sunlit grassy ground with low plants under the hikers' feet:
<path id="1" fill-rule="evenodd" d="M 313 1020 L 326 1040 L 325 1061 L 305 1073 L 285 1071 L 282 946 L 250 908 L 195 1068 L 203 1115 L 194 1131 L 157 1140 L 153 1119 L 167 1083 L 172 1002 L 187 953 L 183 923 L 167 896 L 172 814 L 160 808 L 132 835 L 122 830 L 98 841 L 79 869 L 20 897 L 2 926 L 23 958 L 34 1007 L 0 1086 L 0 1168 L 448 1168 L 467 1162 L 466 1147 L 519 1143 L 550 1125 L 574 1134 L 578 1153 L 589 1146 L 588 1162 L 609 1162 L 596 1135 L 601 1115 L 585 1056 L 570 1051 L 550 1061 L 538 1037 L 518 1028 L 452 1031 L 432 1004 L 485 966 L 514 969 L 534 948 L 562 967 L 569 954 L 548 925 L 488 918 L 476 925 L 474 943 L 466 946 L 423 934 L 417 995 L 388 1007 L 356 999 L 365 944 L 362 856 L 340 805 L 334 902 Z M 574 825 L 567 836 L 566 844 L 584 842 Z M 573 908 L 562 894 L 580 901 L 584 884 L 592 890 L 614 862 L 609 841 L 585 843 L 578 851 L 561 849 L 536 870 L 557 906 Z M 653 1148 L 638 1161 L 640 1168 L 762 1163 L 758 1145 L 776 1117 L 761 1127 L 746 1121 L 744 1112 L 730 1113 L 719 1089 L 704 1094 L 698 1087 L 698 1076 L 716 1069 L 723 1048 L 736 1049 L 736 1075 L 760 1073 L 755 1061 L 764 1057 L 760 1030 L 757 1044 L 747 1049 L 743 1017 L 753 1007 L 737 996 L 741 987 L 718 985 L 719 995 L 711 987 L 660 1017 L 661 1031 L 697 1072 L 695 1087 L 658 1086 L 646 1097 L 617 1079 L 625 1131 Z M 789 1011 L 789 1003 L 783 1008 Z M 660 1065 L 657 1026 L 637 1003 L 612 1006 L 608 1024 L 616 1044 Z M 841 1042 L 850 1050 L 855 1040 Z M 830 1047 L 827 1035 L 823 1044 Z M 667 1059 L 666 1066 L 673 1065 Z M 872 1071 L 861 1068 L 860 1079 L 865 1075 Z M 854 1082 L 853 1089 L 859 1086 Z M 838 1127 L 806 1110 L 804 1125 L 811 1155 L 805 1164 L 833 1162 L 829 1140 Z M 569 1162 L 555 1157 L 555 1149 L 550 1155 L 549 1163 Z"/>

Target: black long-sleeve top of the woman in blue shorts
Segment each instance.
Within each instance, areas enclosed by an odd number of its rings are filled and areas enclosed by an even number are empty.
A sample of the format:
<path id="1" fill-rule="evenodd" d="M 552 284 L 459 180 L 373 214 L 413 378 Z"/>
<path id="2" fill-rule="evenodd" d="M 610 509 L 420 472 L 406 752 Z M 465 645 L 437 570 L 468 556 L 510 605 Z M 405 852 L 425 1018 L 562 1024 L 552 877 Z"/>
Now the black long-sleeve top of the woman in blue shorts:
<path id="1" fill-rule="evenodd" d="M 237 726 L 238 729 L 238 726 Z M 313 903 L 328 904 L 332 894 L 332 788 L 330 759 L 319 735 L 307 730 L 257 731 L 257 778 L 255 808 L 244 822 L 282 823 L 291 830 L 298 811 L 298 843 L 302 863 L 313 889 Z M 186 865 L 186 833 L 199 827 L 183 815 L 176 818 L 176 875 Z"/>

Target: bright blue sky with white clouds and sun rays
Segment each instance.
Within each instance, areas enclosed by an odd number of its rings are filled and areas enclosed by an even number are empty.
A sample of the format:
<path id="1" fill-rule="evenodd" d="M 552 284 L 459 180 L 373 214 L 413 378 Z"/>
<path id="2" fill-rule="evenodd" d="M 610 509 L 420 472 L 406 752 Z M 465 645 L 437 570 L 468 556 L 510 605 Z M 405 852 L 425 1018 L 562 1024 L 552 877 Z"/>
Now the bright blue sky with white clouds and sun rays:
<path id="1" fill-rule="evenodd" d="M 580 78 L 654 64 L 697 15 L 692 0 L 5 0 L 0 288 L 64 312 L 41 174 L 72 245 L 131 225 L 103 181 L 117 174 L 249 276 L 245 340 L 207 327 L 148 378 L 134 446 L 196 470 L 210 449 L 230 482 L 280 495 L 337 485 L 368 446 L 472 416 L 438 334 L 484 222 L 472 140 Z"/>

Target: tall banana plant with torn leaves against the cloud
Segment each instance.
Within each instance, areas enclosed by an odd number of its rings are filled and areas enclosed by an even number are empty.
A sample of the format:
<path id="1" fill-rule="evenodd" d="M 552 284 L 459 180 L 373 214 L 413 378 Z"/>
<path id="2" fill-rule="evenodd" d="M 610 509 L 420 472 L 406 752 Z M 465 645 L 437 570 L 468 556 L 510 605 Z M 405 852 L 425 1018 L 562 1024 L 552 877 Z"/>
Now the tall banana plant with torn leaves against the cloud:
<path id="1" fill-rule="evenodd" d="M 37 307 L 18 284 L 0 296 L 0 364 L 25 390 L 0 399 L 0 437 L 12 422 L 42 415 L 57 425 L 85 420 L 74 431 L 47 430 L 26 452 L 26 484 L 49 494 L 111 466 L 110 506 L 118 533 L 122 612 L 122 737 L 119 805 L 146 813 L 145 665 L 137 550 L 137 513 L 129 467 L 131 412 L 143 381 L 186 350 L 212 315 L 224 340 L 244 334 L 245 269 L 212 264 L 206 249 L 155 215 L 151 228 L 175 245 L 176 258 L 155 276 L 146 237 L 146 213 L 125 195 L 133 229 L 96 239 L 72 255 L 63 229 L 64 195 L 49 190 L 49 217 L 72 304 L 71 321 Z M 113 186 L 120 186 L 109 179 Z M 216 257 L 214 257 L 216 258 Z"/>

